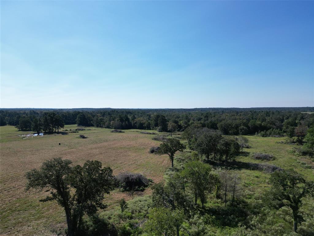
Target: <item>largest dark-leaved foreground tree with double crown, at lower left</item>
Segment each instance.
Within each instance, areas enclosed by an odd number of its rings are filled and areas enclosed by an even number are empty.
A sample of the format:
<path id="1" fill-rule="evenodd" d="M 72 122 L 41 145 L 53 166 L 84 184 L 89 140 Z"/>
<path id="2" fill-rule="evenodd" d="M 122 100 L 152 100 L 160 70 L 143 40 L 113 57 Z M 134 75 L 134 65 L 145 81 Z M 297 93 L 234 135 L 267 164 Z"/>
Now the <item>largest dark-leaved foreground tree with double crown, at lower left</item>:
<path id="1" fill-rule="evenodd" d="M 68 235 L 79 235 L 84 214 L 93 216 L 104 209 L 104 194 L 115 186 L 110 167 L 101 167 L 99 161 L 86 161 L 83 166 L 71 166 L 70 160 L 54 158 L 44 162 L 40 169 L 26 173 L 26 189 L 50 190 L 41 201 L 56 200 L 64 208 Z"/>

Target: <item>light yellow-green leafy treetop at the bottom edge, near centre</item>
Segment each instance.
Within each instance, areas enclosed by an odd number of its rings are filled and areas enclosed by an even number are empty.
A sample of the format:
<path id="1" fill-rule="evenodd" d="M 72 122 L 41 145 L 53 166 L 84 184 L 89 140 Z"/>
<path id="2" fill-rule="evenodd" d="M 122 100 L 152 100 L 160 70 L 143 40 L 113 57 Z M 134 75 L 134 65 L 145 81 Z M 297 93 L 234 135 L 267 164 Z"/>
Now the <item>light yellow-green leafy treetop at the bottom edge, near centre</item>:
<path id="1" fill-rule="evenodd" d="M 145 224 L 145 231 L 154 236 L 179 236 L 178 229 L 183 223 L 184 214 L 180 210 L 153 208 Z"/>

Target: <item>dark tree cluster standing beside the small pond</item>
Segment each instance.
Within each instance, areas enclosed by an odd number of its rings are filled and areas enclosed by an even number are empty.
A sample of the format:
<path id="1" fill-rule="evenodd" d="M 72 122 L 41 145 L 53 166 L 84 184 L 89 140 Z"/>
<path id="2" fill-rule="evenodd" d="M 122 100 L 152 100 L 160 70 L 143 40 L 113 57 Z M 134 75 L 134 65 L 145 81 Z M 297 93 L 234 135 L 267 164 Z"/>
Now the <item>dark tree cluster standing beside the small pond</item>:
<path id="1" fill-rule="evenodd" d="M 64 121 L 60 115 L 54 112 L 45 112 L 39 117 L 21 116 L 19 124 L 15 127 L 22 131 L 32 130 L 36 133 L 59 132 L 59 128 L 64 127 Z"/>

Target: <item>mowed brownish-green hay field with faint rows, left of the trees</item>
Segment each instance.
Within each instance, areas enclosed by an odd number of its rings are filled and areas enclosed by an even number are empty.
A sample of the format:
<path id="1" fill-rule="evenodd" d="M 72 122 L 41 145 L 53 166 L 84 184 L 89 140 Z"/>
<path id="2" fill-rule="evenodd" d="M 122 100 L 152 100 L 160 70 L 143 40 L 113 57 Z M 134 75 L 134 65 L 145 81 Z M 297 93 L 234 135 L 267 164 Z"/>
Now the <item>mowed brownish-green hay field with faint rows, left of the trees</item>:
<path id="1" fill-rule="evenodd" d="M 64 127 L 76 128 L 75 125 Z M 31 132 L 18 131 L 14 126 L 1 127 L 1 235 L 53 235 L 53 228 L 64 224 L 64 212 L 56 202 L 39 202 L 47 193 L 25 191 L 25 173 L 39 168 L 45 160 L 62 157 L 72 160 L 73 165 L 99 160 L 103 166 L 110 166 L 114 174 L 138 172 L 154 182 L 161 181 L 171 165 L 167 155 L 149 154 L 151 146 L 160 144 L 152 140 L 154 135 L 141 134 L 139 130 L 111 133 L 110 129 L 86 129 L 90 130 L 23 139 L 18 135 Z M 78 138 L 80 134 L 88 138 Z M 143 194 L 150 192 L 146 189 Z M 122 197 L 133 196 L 115 190 L 106 196 L 108 207 L 116 205 Z"/>

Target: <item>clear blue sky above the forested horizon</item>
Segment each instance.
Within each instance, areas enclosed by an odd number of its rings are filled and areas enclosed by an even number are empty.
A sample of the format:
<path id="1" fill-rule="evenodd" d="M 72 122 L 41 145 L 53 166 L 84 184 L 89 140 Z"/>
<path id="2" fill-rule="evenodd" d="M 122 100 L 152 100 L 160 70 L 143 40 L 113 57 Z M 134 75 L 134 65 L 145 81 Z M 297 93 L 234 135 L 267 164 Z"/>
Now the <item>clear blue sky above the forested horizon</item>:
<path id="1" fill-rule="evenodd" d="M 295 106 L 313 1 L 1 1 L 2 108 Z"/>

